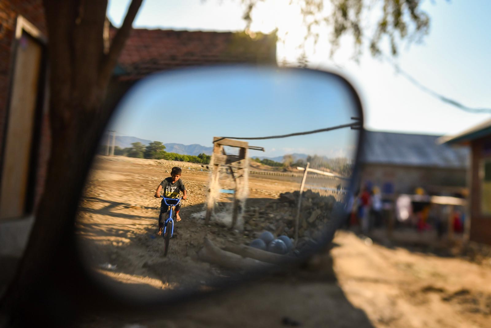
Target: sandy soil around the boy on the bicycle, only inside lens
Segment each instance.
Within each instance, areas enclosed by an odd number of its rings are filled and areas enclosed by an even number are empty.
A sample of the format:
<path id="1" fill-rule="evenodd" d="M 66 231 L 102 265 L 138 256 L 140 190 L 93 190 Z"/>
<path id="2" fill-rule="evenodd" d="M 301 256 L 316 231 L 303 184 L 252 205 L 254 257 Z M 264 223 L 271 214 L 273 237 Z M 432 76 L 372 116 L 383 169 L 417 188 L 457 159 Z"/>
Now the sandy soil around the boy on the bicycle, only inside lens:
<path id="1" fill-rule="evenodd" d="M 164 240 L 156 235 L 160 200 L 153 195 L 173 166 L 183 168 L 189 199 L 183 201 L 182 221 L 175 222 L 169 254 L 164 257 Z M 195 259 L 205 237 L 220 247 L 254 238 L 252 233 L 227 229 L 225 219 L 230 215 L 218 215 L 205 224 L 208 176 L 206 166 L 198 164 L 100 156 L 88 179 L 77 219 L 80 249 L 87 264 L 108 277 L 107 283 L 119 292 L 129 287 L 128 293 L 134 294 L 132 287 L 137 285 L 144 295 L 155 289 L 205 288 L 208 281 L 232 273 Z M 222 176 L 221 187 L 232 189 L 232 179 Z M 245 216 L 254 215 L 256 207 L 264 208 L 281 192 L 296 190 L 298 183 L 251 178 L 249 188 Z M 229 214 L 232 195 L 221 194 L 218 200 L 217 212 Z"/>

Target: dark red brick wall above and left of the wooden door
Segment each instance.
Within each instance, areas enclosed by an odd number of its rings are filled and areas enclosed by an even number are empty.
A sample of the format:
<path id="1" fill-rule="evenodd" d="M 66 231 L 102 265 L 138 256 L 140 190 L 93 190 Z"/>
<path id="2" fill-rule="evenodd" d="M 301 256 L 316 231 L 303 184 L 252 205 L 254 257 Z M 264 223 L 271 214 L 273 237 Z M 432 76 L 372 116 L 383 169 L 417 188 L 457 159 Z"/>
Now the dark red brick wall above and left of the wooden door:
<path id="1" fill-rule="evenodd" d="M 11 50 L 18 15 L 24 16 L 46 35 L 42 0 L 0 1 L 0 145 L 3 143 L 6 103 L 10 83 L 10 65 L 12 62 Z"/>

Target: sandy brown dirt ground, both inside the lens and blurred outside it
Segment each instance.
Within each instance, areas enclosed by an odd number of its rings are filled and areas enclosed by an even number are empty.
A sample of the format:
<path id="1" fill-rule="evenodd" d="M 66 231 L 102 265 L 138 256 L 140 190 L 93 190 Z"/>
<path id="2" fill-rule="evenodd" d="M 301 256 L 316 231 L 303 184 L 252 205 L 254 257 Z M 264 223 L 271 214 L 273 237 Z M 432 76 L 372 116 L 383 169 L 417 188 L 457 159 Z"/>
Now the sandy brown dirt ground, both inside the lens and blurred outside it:
<path id="1" fill-rule="evenodd" d="M 219 246 L 253 238 L 217 223 L 207 226 L 200 215 L 192 215 L 203 210 L 208 173 L 186 164 L 182 178 L 190 199 L 164 258 L 163 240 L 155 238 L 160 204 L 153 193 L 175 165 L 105 158 L 96 164 L 81 204 L 77 227 L 82 253 L 106 283 L 132 298 L 189 287 L 206 290 L 209 281 L 229 272 L 194 258 L 203 238 Z M 254 207 L 296 190 L 298 183 L 251 178 L 249 186 Z M 159 312 L 107 314 L 83 318 L 80 327 L 484 328 L 491 327 L 490 281 L 489 259 L 478 264 L 338 231 L 329 253 L 290 272 L 180 304 L 165 318 Z"/>

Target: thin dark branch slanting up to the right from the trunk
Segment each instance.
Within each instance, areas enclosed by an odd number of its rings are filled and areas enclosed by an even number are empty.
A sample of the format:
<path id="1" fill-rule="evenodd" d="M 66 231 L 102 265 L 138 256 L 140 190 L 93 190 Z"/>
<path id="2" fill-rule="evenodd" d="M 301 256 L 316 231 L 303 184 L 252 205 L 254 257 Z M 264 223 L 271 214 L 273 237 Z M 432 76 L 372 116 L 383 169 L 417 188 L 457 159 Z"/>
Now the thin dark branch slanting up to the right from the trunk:
<path id="1" fill-rule="evenodd" d="M 108 83 L 112 70 L 116 66 L 119 55 L 123 50 L 126 39 L 128 39 L 128 36 L 130 35 L 131 26 L 142 1 L 143 0 L 131 1 L 123 25 L 117 30 L 116 35 L 112 39 L 108 54 L 103 57 L 101 73 L 99 75 L 99 86 L 104 86 Z"/>

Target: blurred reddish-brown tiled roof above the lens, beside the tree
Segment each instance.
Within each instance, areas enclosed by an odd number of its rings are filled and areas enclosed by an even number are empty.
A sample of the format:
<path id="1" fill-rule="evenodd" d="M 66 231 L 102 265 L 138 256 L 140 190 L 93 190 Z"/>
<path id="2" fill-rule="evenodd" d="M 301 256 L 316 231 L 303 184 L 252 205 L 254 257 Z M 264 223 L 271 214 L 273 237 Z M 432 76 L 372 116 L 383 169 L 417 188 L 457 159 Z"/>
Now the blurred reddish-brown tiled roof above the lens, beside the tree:
<path id="1" fill-rule="evenodd" d="M 110 29 L 111 38 L 116 33 Z M 118 60 L 120 79 L 135 80 L 182 66 L 276 63 L 276 35 L 133 29 Z"/>

